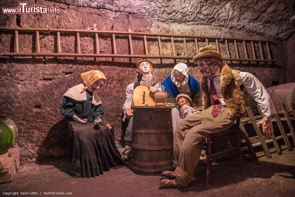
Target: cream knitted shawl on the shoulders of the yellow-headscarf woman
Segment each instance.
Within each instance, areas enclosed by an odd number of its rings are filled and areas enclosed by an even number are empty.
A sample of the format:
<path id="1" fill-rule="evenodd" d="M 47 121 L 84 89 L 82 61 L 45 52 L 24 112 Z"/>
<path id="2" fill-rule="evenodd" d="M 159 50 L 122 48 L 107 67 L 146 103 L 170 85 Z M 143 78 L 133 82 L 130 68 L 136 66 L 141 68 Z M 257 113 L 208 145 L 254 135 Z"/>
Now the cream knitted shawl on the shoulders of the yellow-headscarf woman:
<path id="1" fill-rule="evenodd" d="M 72 98 L 75 101 L 87 101 L 86 92 L 82 91 L 83 88 L 84 88 L 84 85 L 82 83 L 80 83 L 79 85 L 68 89 L 68 91 L 63 96 L 67 96 L 69 98 Z M 99 98 L 97 93 L 94 91 L 94 92 L 92 92 L 92 94 L 93 94 L 93 96 L 92 96 L 91 103 L 94 104 L 95 106 L 101 104 L 101 99 Z"/>

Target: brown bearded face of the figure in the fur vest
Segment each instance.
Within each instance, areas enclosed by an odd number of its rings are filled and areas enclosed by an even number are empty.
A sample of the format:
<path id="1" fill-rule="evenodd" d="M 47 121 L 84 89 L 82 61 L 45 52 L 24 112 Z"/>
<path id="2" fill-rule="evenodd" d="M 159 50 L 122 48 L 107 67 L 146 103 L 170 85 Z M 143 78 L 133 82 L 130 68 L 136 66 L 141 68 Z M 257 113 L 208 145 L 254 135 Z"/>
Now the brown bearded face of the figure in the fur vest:
<path id="1" fill-rule="evenodd" d="M 213 77 L 218 70 L 218 58 L 200 58 L 197 61 L 200 72 L 205 77 Z"/>

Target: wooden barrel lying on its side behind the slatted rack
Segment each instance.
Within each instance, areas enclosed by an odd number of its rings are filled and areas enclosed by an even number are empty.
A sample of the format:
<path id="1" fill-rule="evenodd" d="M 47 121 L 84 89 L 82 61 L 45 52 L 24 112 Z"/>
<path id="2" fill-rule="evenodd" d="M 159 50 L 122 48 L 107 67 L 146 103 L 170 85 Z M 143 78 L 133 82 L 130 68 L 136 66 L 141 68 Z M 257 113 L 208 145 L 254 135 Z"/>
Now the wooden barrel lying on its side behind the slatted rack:
<path id="1" fill-rule="evenodd" d="M 292 109 L 291 102 L 295 101 L 295 83 L 285 83 L 266 90 L 277 111 L 283 111 L 280 102 L 285 103 L 287 109 Z"/>

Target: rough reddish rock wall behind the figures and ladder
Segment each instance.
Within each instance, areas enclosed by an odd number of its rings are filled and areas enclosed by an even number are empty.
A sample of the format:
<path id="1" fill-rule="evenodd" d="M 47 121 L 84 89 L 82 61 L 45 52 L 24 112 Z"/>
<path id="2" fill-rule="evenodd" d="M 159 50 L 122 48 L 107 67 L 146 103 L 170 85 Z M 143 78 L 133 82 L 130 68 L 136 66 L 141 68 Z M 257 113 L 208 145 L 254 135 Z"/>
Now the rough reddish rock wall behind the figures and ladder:
<path id="1" fill-rule="evenodd" d="M 286 83 L 286 55 L 281 41 L 289 37 L 294 29 L 284 22 L 294 10 L 288 7 L 291 1 L 27 1 L 28 5 L 57 6 L 60 14 L 10 14 L 0 15 L 1 27 L 95 29 L 110 31 L 160 32 L 188 35 L 207 35 L 241 38 L 276 39 L 271 45 L 271 63 L 228 62 L 237 70 L 254 74 L 267 88 Z M 255 4 L 253 4 L 253 2 Z M 6 3 L 6 2 L 5 2 Z M 9 1 L 3 7 L 16 7 L 18 1 Z M 256 5 L 256 6 L 255 6 Z M 261 9 L 258 9 L 257 5 Z M 248 8 L 253 6 L 253 9 Z M 266 7 L 269 6 L 269 9 Z M 254 9 L 255 8 L 255 9 Z M 263 9 L 262 9 L 263 8 Z M 240 10 L 237 12 L 235 10 Z M 252 14 L 249 11 L 252 10 Z M 188 14 L 189 13 L 189 14 Z M 281 20 L 277 19 L 281 13 Z M 212 15 L 213 14 L 213 15 Z M 272 21 L 272 22 L 270 22 Z M 278 28 L 278 26 L 280 28 Z M 286 28 L 281 28 L 286 27 Z M 81 51 L 95 52 L 94 37 L 80 35 Z M 1 52 L 14 51 L 14 36 L 9 32 L 0 35 Z M 75 35 L 62 34 L 62 52 L 77 52 Z M 35 52 L 35 34 L 19 33 L 19 51 Z M 40 33 L 41 52 L 56 52 L 55 35 Z M 117 53 L 128 54 L 128 40 L 117 36 Z M 205 46 L 204 40 L 199 40 Z M 214 44 L 214 41 L 209 40 Z M 101 53 L 111 52 L 111 37 L 99 37 Z M 189 55 L 194 55 L 195 45 L 187 40 Z M 248 54 L 252 54 L 247 43 Z M 238 43 L 240 55 L 245 55 L 242 43 Z M 181 40 L 175 39 L 177 55 L 184 55 Z M 259 57 L 258 45 L 255 44 Z M 163 54 L 172 53 L 170 40 L 162 39 Z M 220 41 L 222 55 L 226 56 L 224 41 Z M 144 54 L 142 37 L 133 41 L 134 54 Z M 235 57 L 233 43 L 230 43 Z M 148 38 L 149 54 L 158 55 L 156 40 Z M 266 47 L 264 47 L 264 53 Z M 250 55 L 251 57 L 251 55 Z M 126 58 L 4 58 L 0 61 L 0 114 L 17 123 L 19 136 L 14 146 L 20 148 L 22 163 L 44 161 L 61 157 L 68 152 L 68 126 L 59 108 L 65 91 L 82 82 L 80 73 L 101 70 L 108 85 L 99 92 L 106 108 L 104 122 L 115 125 L 117 145 L 122 139 L 121 113 L 125 98 L 125 88 L 139 79 L 136 62 L 139 59 Z M 200 79 L 195 65 L 186 60 L 153 60 L 155 62 L 154 81 L 165 78 L 173 66 L 179 62 L 189 65 L 190 74 Z M 246 96 L 247 105 L 255 102 Z"/>

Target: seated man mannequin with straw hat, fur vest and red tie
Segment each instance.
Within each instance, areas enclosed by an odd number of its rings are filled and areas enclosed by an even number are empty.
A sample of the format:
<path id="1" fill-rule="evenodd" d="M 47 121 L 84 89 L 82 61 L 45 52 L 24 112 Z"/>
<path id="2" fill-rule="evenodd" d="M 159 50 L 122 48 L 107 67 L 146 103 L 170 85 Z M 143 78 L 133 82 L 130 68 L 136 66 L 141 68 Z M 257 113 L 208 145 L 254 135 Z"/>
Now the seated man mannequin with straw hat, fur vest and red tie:
<path id="1" fill-rule="evenodd" d="M 173 139 L 176 169 L 162 173 L 167 178 L 160 181 L 163 187 L 186 187 L 194 178 L 203 139 L 209 134 L 226 131 L 237 117 L 243 116 L 245 101 L 241 85 L 265 115 L 258 123 L 262 124 L 263 133 L 266 137 L 273 134 L 270 116 L 276 113 L 276 109 L 266 89 L 254 75 L 232 70 L 221 60 L 221 53 L 213 45 L 200 48 L 193 59 L 202 73 L 203 111 L 186 117 L 177 125 Z"/>

